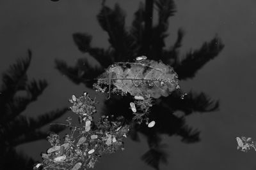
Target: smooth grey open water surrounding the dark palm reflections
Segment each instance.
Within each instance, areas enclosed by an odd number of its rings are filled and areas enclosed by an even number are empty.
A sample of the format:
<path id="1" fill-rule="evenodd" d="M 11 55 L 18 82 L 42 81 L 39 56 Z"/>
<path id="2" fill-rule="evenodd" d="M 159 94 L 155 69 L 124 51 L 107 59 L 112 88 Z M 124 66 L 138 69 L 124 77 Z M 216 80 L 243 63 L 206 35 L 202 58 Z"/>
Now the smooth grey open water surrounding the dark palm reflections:
<path id="1" fill-rule="evenodd" d="M 72 94 L 84 90 L 92 96 L 93 90 L 74 85 L 54 69 L 54 60 L 63 59 L 73 66 L 84 55 L 72 39 L 74 32 L 88 32 L 92 45 L 108 47 L 108 35 L 102 31 L 96 15 L 101 1 L 0 1 L 0 73 L 19 57 L 33 52 L 29 78 L 44 78 L 49 87 L 29 104 L 23 115 L 36 117 L 46 111 L 68 106 Z M 115 3 L 126 12 L 126 26 L 131 25 L 134 11 L 140 1 L 106 1 Z M 181 27 L 186 32 L 180 56 L 200 48 L 214 35 L 222 39 L 225 48 L 215 59 L 205 64 L 195 78 L 180 82 L 184 91 L 205 92 L 220 100 L 220 109 L 210 113 L 195 113 L 186 117 L 191 127 L 200 131 L 201 141 L 182 143 L 179 136 L 163 136 L 168 145 L 168 164 L 161 169 L 256 169 L 256 152 L 243 153 L 236 149 L 236 136 L 256 139 L 255 116 L 255 55 L 256 55 L 256 2 L 255 1 L 175 1 L 177 13 L 169 20 L 166 46 L 177 38 Z M 99 101 L 103 95 L 97 95 Z M 99 108 L 102 105 L 99 106 Z M 68 116 L 63 115 L 60 121 Z M 141 136 L 141 135 L 140 135 Z M 26 143 L 17 147 L 35 160 L 49 147 L 46 140 Z M 146 139 L 140 142 L 125 139 L 125 152 L 106 155 L 95 169 L 152 169 L 140 160 L 147 152 Z"/>

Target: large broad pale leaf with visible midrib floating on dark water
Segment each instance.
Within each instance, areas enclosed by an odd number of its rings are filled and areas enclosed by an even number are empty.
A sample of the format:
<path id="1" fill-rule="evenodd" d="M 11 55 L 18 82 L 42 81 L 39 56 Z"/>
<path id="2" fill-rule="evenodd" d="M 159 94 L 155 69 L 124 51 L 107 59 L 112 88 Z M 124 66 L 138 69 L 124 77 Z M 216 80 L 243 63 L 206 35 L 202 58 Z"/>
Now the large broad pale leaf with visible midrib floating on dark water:
<path id="1" fill-rule="evenodd" d="M 111 78 L 111 80 L 109 80 Z M 114 85 L 113 91 L 132 96 L 150 95 L 153 98 L 168 96 L 178 87 L 178 76 L 171 66 L 155 60 L 116 62 L 99 76 L 93 85 L 102 91 L 101 85 Z"/>

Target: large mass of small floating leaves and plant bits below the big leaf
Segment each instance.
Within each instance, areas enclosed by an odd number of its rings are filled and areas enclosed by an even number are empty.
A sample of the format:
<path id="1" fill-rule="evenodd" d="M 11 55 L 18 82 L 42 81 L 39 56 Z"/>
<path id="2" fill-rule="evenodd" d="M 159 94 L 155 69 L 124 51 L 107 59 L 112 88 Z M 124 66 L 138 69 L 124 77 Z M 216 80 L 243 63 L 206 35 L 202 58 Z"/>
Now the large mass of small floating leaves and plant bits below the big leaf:
<path id="1" fill-rule="evenodd" d="M 34 169 L 88 169 L 94 167 L 101 155 L 124 150 L 123 139 L 129 125 L 122 118 L 111 121 L 112 117 L 103 115 L 97 124 L 92 122 L 92 115 L 97 112 L 95 99 L 86 93 L 79 98 L 72 96 L 70 103 L 80 125 L 72 125 L 72 119 L 67 118 L 68 124 L 62 125 L 70 127 L 70 134 L 66 134 L 63 143 L 58 134 L 50 134 L 47 139 L 52 147 L 42 153 L 43 162 Z"/>

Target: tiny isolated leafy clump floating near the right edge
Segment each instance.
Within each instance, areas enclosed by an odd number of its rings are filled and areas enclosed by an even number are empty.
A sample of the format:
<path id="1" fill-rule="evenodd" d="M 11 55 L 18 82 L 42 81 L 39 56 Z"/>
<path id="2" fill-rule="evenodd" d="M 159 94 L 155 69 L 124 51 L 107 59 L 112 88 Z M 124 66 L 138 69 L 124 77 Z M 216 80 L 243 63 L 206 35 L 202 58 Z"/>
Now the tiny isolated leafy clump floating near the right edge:
<path id="1" fill-rule="evenodd" d="M 241 150 L 242 152 L 248 152 L 250 149 L 254 149 L 256 151 L 256 142 L 252 141 L 252 138 L 246 138 L 242 136 L 241 138 L 236 137 L 237 141 L 237 150 Z"/>

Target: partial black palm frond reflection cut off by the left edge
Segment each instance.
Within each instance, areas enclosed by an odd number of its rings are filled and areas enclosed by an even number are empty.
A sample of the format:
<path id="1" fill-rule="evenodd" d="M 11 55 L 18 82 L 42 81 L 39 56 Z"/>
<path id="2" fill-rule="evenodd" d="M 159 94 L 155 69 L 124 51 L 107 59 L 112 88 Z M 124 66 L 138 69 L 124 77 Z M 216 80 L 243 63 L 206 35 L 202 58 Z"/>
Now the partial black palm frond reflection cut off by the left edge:
<path id="1" fill-rule="evenodd" d="M 23 153 L 17 153 L 16 146 L 39 139 L 45 139 L 48 132 L 40 128 L 61 117 L 67 108 L 50 111 L 36 118 L 22 115 L 27 106 L 35 102 L 47 87 L 45 80 L 28 80 L 27 71 L 31 62 L 28 57 L 19 59 L 2 74 L 0 88 L 0 169 L 32 169 L 35 161 Z M 51 126 L 49 131 L 60 132 L 64 128 Z"/>

